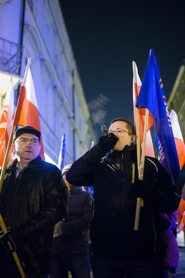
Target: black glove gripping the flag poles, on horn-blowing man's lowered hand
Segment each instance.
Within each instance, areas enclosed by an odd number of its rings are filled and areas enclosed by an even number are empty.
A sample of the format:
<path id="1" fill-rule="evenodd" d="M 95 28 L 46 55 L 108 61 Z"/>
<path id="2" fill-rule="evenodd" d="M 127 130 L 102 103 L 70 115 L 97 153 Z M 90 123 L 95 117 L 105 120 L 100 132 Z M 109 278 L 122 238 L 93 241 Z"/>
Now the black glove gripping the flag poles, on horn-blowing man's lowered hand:
<path id="1" fill-rule="evenodd" d="M 142 198 L 144 201 L 152 199 L 152 187 L 147 185 L 145 180 L 136 180 L 134 182 L 134 191 L 136 198 Z"/>

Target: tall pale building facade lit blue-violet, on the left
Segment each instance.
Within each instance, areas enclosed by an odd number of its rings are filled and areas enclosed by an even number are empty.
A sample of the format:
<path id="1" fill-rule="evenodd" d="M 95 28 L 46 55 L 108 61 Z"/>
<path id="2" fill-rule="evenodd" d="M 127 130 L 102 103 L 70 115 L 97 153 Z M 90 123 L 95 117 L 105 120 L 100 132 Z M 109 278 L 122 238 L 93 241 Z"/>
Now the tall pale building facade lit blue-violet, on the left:
<path id="1" fill-rule="evenodd" d="M 65 164 L 72 163 L 96 136 L 58 0 L 0 0 L 0 26 L 1 99 L 11 75 L 17 101 L 32 57 L 44 151 L 57 163 L 65 133 Z"/>

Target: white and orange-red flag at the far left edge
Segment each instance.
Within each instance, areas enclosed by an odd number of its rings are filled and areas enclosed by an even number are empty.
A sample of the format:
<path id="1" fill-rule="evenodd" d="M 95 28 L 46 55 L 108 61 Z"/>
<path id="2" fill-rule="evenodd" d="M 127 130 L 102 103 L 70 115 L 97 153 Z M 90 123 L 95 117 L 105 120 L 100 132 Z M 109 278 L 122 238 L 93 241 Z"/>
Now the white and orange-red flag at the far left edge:
<path id="1" fill-rule="evenodd" d="M 5 96 L 5 102 L 0 119 L 0 167 L 3 167 L 8 140 L 14 118 L 14 88 L 12 77 Z M 13 152 L 10 152 L 8 163 L 12 162 Z"/>

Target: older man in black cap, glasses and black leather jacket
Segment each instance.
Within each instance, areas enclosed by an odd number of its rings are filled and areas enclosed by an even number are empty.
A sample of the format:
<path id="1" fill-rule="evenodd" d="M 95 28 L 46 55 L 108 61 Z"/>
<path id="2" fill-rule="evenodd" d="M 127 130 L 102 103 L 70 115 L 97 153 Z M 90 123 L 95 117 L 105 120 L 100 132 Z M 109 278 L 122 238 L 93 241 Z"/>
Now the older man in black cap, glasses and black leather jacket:
<path id="1" fill-rule="evenodd" d="M 0 195 L 0 213 L 9 230 L 0 238 L 1 277 L 20 277 L 14 250 L 26 278 L 48 277 L 54 226 L 66 216 L 66 185 L 61 171 L 41 160 L 40 135 L 29 126 L 14 134 L 17 158 L 7 166 Z"/>

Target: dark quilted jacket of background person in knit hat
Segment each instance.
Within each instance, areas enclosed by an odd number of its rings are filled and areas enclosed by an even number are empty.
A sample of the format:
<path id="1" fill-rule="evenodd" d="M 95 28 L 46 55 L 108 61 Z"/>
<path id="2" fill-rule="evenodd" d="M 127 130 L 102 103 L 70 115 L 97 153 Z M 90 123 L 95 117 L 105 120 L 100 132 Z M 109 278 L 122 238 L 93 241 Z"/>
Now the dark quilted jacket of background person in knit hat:
<path id="1" fill-rule="evenodd" d="M 70 186 L 67 216 L 62 223 L 63 234 L 53 238 L 54 255 L 88 254 L 87 231 L 92 220 L 92 195 L 82 187 Z"/>

